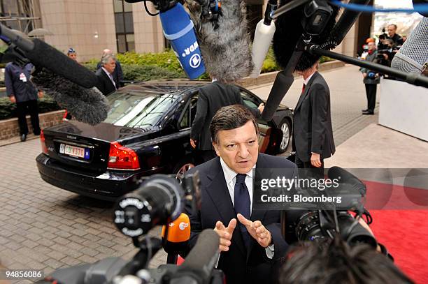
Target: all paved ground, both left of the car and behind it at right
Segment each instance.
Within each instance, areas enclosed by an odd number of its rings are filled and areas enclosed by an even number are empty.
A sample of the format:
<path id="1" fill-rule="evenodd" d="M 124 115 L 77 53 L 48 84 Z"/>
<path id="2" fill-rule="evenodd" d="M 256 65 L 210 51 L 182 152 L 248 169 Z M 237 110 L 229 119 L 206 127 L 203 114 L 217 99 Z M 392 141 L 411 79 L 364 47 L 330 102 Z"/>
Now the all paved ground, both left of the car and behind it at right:
<path id="1" fill-rule="evenodd" d="M 377 121 L 377 116 L 361 115 L 366 98 L 357 68 L 331 70 L 324 73 L 324 77 L 331 90 L 334 137 L 336 144 L 340 144 Z M 294 82 L 284 103 L 295 105 L 301 82 L 301 79 Z M 269 90 L 269 85 L 252 88 L 262 97 L 267 96 Z M 38 139 L 0 147 L 0 260 L 3 265 L 9 269 L 43 269 L 49 274 L 59 267 L 95 262 L 108 256 L 129 259 L 134 255 L 136 249 L 131 239 L 113 226 L 112 204 L 46 184 L 36 167 L 35 158 L 40 153 Z M 159 228 L 150 234 L 159 234 Z M 165 262 L 166 255 L 159 252 L 150 266 Z"/>

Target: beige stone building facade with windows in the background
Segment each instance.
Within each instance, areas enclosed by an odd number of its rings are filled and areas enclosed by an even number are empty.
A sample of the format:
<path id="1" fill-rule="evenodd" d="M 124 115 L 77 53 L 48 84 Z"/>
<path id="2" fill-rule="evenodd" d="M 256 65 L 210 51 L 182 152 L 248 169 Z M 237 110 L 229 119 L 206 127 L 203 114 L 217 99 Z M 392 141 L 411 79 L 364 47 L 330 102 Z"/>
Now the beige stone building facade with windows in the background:
<path id="1" fill-rule="evenodd" d="M 267 0 L 266 0 L 267 2 Z M 150 2 L 147 8 L 156 10 Z M 245 0 L 248 10 L 250 33 L 264 13 L 263 0 Z M 22 8 L 19 8 L 22 6 Z M 31 7 L 31 13 L 23 7 Z M 58 50 L 66 52 L 73 47 L 78 61 L 101 57 L 102 50 L 113 52 L 162 52 L 167 46 L 159 16 L 150 16 L 144 3 L 127 3 L 124 0 L 0 0 L 3 19 L 12 15 L 24 15 L 33 19 L 30 24 L 6 21 L 10 27 L 31 30 L 38 27 L 52 34 L 44 40 Z M 31 15 L 30 15 L 31 14 Z M 30 17 L 31 16 L 31 17 Z M 15 24 L 13 24 L 15 23 Z M 27 22 L 26 22 L 27 23 Z M 357 53 L 358 23 L 350 30 L 337 52 L 355 56 Z"/>

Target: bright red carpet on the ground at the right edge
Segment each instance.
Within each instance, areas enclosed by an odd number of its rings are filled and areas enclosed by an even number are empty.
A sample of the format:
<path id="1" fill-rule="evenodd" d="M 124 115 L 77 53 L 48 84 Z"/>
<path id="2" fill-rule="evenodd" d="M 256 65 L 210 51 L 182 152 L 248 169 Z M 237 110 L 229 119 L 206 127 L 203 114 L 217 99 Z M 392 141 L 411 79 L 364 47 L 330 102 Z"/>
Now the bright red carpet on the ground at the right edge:
<path id="1" fill-rule="evenodd" d="M 413 281 L 428 283 L 428 190 L 373 181 L 364 184 L 376 239 Z"/>

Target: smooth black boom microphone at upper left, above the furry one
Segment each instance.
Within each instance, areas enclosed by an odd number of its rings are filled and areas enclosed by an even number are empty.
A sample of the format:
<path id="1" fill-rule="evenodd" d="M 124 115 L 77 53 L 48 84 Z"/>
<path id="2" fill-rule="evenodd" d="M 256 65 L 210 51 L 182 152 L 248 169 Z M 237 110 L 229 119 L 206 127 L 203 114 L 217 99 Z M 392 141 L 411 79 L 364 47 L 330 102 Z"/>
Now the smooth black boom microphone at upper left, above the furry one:
<path id="1" fill-rule="evenodd" d="M 3 24 L 0 24 L 0 34 L 9 38 L 11 43 L 19 47 L 22 54 L 34 66 L 48 68 L 53 73 L 85 88 L 92 88 L 97 85 L 97 76 L 91 70 L 81 66 L 38 38 L 33 40 L 22 38 Z"/>

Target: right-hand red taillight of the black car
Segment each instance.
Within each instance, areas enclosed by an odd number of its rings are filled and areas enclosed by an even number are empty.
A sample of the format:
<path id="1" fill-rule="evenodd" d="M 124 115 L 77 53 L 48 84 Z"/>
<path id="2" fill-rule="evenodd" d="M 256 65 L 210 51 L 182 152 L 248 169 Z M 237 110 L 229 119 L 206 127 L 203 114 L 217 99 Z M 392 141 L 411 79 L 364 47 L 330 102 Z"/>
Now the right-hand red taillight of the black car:
<path id="1" fill-rule="evenodd" d="M 134 150 L 123 147 L 118 142 L 111 142 L 107 167 L 117 170 L 138 170 L 140 163 Z"/>

